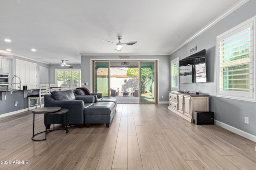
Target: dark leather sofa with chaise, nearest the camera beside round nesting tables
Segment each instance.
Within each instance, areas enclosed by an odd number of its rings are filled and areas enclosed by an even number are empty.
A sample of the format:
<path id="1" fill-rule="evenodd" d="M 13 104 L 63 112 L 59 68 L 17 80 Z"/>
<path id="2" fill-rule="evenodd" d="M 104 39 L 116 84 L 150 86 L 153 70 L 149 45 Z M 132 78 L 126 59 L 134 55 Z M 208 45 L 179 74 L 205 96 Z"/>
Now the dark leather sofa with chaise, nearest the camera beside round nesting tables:
<path id="1" fill-rule="evenodd" d="M 86 124 L 90 127 L 91 123 L 106 123 L 109 127 L 112 118 L 116 113 L 115 102 L 95 102 L 95 96 L 75 96 L 72 90 L 53 91 L 51 95 L 44 96 L 44 107 L 59 106 L 69 109 L 68 124 L 78 124 L 80 128 Z M 47 116 L 44 124 L 50 127 L 53 124 L 53 116 Z M 54 123 L 61 124 L 61 115 L 55 115 Z M 64 116 L 64 122 L 66 117 Z"/>

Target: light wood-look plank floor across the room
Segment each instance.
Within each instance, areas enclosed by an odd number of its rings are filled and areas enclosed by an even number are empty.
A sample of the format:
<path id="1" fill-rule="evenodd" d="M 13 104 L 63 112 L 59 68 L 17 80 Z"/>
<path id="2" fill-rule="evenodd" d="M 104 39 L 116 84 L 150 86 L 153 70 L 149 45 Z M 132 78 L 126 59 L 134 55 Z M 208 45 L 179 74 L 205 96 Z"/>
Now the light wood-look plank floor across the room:
<path id="1" fill-rule="evenodd" d="M 167 106 L 118 104 L 110 128 L 103 124 L 70 127 L 68 134 L 48 133 L 47 141 L 31 140 L 31 111 L 0 118 L 0 169 L 256 168 L 256 143 L 217 125 L 189 123 Z M 43 130 L 43 115 L 37 114 L 36 131 Z M 3 164 L 9 160 L 11 164 Z"/>

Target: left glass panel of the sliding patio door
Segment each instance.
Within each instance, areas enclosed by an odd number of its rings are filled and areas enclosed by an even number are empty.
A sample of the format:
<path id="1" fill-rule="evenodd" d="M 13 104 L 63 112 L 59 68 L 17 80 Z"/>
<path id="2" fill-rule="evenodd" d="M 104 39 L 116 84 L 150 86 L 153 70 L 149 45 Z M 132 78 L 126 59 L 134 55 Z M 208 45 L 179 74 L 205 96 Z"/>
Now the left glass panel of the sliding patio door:
<path id="1" fill-rule="evenodd" d="M 94 78 L 93 91 L 102 93 L 102 97 L 109 97 L 110 87 L 110 62 L 109 61 L 93 61 Z"/>

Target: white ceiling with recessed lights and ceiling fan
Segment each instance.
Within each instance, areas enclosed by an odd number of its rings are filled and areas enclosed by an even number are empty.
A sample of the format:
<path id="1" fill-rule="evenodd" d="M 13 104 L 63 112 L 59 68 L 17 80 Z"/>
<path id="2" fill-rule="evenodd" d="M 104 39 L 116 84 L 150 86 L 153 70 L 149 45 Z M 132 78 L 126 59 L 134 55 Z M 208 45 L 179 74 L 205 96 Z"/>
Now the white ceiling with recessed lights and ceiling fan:
<path id="1" fill-rule="evenodd" d="M 170 55 L 246 0 L 1 0 L 0 50 L 49 64 L 80 55 Z M 118 42 L 138 41 L 114 51 Z M 11 39 L 5 42 L 4 39 Z M 36 49 L 36 52 L 31 49 Z"/>

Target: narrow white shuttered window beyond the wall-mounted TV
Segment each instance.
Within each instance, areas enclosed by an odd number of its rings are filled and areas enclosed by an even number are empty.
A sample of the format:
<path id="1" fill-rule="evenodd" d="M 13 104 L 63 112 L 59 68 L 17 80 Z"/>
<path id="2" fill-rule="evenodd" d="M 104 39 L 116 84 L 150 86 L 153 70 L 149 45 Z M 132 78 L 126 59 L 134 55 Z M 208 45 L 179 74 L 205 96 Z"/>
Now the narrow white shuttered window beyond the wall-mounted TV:
<path id="1" fill-rule="evenodd" d="M 179 57 L 171 61 L 171 90 L 179 90 Z"/>

